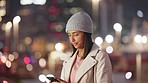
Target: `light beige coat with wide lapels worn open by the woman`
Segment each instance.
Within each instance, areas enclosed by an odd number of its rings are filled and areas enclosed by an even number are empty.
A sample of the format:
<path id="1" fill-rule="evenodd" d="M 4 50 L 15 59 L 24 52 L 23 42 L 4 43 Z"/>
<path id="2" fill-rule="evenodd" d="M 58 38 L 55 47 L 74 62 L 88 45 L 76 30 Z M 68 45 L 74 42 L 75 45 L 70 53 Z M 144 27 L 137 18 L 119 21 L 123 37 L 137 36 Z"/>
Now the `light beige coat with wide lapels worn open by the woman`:
<path id="1" fill-rule="evenodd" d="M 69 60 L 63 62 L 61 79 L 69 81 L 71 68 L 76 57 L 75 53 Z M 100 51 L 93 44 L 90 53 L 77 70 L 74 83 L 111 83 L 112 66 L 106 52 Z"/>

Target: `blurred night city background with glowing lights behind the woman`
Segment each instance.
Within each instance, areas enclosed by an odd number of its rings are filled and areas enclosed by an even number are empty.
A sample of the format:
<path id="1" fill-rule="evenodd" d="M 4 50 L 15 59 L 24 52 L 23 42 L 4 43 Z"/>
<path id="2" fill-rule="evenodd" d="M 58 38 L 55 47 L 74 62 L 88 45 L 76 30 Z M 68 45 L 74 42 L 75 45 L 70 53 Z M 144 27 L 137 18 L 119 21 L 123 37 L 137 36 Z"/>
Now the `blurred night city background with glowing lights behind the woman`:
<path id="1" fill-rule="evenodd" d="M 0 83 L 60 78 L 71 57 L 68 19 L 93 20 L 93 42 L 108 53 L 113 83 L 148 82 L 147 0 L 0 0 Z"/>

